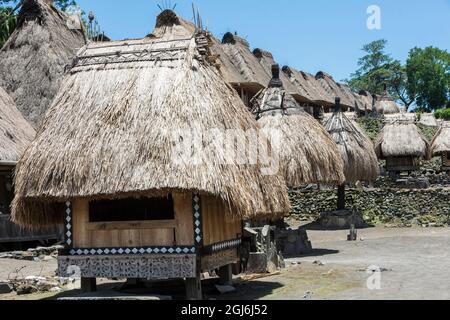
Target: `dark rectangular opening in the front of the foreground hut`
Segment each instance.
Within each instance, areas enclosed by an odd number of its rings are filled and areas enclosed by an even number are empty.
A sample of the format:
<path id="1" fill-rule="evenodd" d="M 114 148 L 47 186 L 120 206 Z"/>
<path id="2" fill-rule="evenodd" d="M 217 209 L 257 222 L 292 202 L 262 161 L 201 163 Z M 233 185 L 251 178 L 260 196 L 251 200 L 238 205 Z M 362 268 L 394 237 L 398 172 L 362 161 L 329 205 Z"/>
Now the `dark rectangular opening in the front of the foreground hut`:
<path id="1" fill-rule="evenodd" d="M 89 222 L 174 220 L 172 195 L 165 198 L 99 200 L 89 202 Z"/>

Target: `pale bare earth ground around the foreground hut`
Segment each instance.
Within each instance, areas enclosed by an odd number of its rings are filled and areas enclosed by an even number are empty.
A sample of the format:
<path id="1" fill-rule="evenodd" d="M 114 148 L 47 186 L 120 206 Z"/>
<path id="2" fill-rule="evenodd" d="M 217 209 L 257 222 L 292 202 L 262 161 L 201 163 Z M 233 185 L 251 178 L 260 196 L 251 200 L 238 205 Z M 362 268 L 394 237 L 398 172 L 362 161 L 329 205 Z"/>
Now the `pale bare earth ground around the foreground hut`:
<path id="1" fill-rule="evenodd" d="M 236 292 L 227 295 L 208 292 L 207 297 L 240 300 L 450 299 L 450 229 L 377 227 L 359 230 L 356 242 L 346 241 L 347 233 L 310 230 L 308 235 L 315 248 L 311 255 L 287 259 L 288 268 L 279 275 L 247 282 L 238 280 Z M 370 276 L 366 269 L 372 265 L 383 270 L 380 290 L 369 290 L 366 285 Z M 21 266 L 25 266 L 21 271 L 24 276 L 44 275 L 56 269 L 56 262 L 0 259 L 0 280 Z M 145 294 L 156 293 L 161 294 Z M 79 294 L 78 290 L 67 291 L 64 296 L 76 294 Z M 0 300 L 43 299 L 54 295 L 8 294 L 0 295 Z"/>

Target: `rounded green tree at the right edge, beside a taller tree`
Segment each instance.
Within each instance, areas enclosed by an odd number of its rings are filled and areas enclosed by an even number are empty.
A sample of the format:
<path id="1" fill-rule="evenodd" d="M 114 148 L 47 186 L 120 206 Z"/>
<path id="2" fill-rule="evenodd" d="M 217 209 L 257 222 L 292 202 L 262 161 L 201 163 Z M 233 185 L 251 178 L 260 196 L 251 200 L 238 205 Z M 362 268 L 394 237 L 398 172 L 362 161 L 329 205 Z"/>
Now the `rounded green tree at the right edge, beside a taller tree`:
<path id="1" fill-rule="evenodd" d="M 414 48 L 406 62 L 409 97 L 424 111 L 444 108 L 450 100 L 450 53 L 435 47 Z"/>

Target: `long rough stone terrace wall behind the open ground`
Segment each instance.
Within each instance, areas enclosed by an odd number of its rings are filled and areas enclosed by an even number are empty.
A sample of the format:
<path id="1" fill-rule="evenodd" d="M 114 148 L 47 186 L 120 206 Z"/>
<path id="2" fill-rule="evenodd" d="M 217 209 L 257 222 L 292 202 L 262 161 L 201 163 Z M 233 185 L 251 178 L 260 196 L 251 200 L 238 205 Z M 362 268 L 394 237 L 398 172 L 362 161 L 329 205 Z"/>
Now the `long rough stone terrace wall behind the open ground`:
<path id="1" fill-rule="evenodd" d="M 321 212 L 336 209 L 336 190 L 296 189 L 289 192 L 291 217 L 314 221 Z M 450 224 L 450 188 L 349 189 L 348 209 L 361 212 L 366 222 L 393 226 L 446 226 Z"/>

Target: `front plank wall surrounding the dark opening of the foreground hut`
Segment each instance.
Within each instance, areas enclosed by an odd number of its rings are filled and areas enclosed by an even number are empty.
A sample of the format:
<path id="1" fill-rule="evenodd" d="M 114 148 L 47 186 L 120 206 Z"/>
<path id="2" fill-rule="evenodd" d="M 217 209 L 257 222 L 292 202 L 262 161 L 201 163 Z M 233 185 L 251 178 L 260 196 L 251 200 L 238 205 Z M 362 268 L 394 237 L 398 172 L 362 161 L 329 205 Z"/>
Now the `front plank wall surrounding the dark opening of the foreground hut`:
<path id="1" fill-rule="evenodd" d="M 76 248 L 191 246 L 194 244 L 192 195 L 174 194 L 174 221 L 89 223 L 89 202 L 73 202 Z"/>

